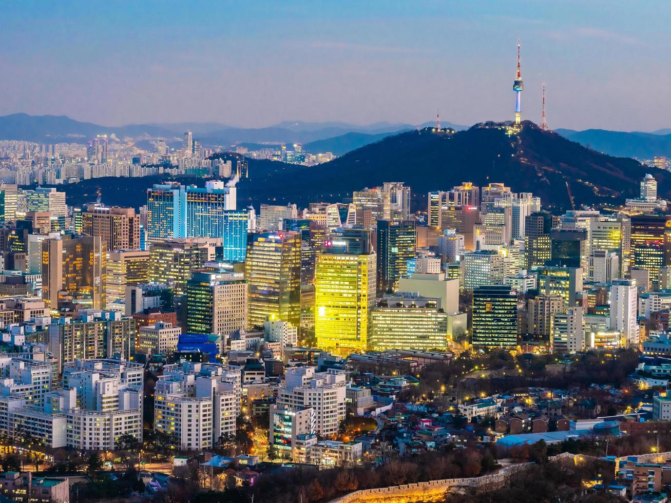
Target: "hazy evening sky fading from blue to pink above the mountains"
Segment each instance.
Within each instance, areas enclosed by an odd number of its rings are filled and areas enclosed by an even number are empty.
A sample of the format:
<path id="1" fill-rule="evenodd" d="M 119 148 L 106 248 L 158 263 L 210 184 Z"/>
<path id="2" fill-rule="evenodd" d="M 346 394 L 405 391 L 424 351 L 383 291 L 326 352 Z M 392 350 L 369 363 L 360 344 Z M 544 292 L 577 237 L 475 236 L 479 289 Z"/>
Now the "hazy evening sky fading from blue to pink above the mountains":
<path id="1" fill-rule="evenodd" d="M 0 114 L 671 127 L 671 2 L 10 1 Z"/>

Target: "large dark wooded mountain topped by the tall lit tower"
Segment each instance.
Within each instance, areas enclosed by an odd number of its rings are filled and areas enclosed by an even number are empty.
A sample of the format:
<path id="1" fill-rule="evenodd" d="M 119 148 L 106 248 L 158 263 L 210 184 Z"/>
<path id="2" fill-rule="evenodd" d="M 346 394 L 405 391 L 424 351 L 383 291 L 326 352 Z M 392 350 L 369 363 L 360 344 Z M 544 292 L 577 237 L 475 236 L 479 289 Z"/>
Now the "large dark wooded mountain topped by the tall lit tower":
<path id="1" fill-rule="evenodd" d="M 600 154 L 529 121 L 512 136 L 497 123 L 451 135 L 431 128 L 407 131 L 309 168 L 249 162 L 251 178 L 240 180 L 238 197 L 254 204 L 342 201 L 352 197 L 352 190 L 401 181 L 411 186 L 415 207 L 423 207 L 427 192 L 470 181 L 479 186 L 505 182 L 558 209 L 570 209 L 568 182 L 576 207 L 613 206 L 637 197 L 639 180 L 650 171 L 633 159 Z M 671 197 L 671 173 L 655 176 L 660 197 Z"/>

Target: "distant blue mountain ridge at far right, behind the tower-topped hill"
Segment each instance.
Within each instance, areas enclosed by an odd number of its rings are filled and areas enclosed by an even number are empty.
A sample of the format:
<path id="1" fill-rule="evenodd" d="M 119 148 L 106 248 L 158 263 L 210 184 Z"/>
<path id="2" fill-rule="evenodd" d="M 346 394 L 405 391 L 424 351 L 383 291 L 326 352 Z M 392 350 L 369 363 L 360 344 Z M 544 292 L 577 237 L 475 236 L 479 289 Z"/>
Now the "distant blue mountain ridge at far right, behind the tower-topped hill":
<path id="1" fill-rule="evenodd" d="M 663 131 L 660 129 L 660 131 Z M 641 160 L 654 156 L 671 157 L 671 134 L 608 131 L 607 129 L 556 129 L 556 133 L 579 144 L 611 156 L 632 157 Z"/>

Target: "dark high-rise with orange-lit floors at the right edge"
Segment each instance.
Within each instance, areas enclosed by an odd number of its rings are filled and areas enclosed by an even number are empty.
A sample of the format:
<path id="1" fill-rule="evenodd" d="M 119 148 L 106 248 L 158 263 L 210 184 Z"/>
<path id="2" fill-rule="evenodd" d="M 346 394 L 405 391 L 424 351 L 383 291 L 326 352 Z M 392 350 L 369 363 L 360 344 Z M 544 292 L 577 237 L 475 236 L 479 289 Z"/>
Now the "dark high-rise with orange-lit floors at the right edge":
<path id="1" fill-rule="evenodd" d="M 656 278 L 661 267 L 671 265 L 671 216 L 631 217 L 631 266 L 647 269 Z"/>

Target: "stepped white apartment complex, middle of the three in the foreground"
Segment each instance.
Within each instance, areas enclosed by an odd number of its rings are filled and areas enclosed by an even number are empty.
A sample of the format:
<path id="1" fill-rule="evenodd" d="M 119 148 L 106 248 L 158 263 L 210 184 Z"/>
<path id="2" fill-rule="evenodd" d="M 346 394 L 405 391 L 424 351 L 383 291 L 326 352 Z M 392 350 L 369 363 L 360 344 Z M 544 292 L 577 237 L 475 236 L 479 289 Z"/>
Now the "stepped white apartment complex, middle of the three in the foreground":
<path id="1" fill-rule="evenodd" d="M 172 433 L 180 449 L 213 447 L 236 431 L 240 367 L 183 362 L 164 366 L 154 391 L 154 430 Z"/>

